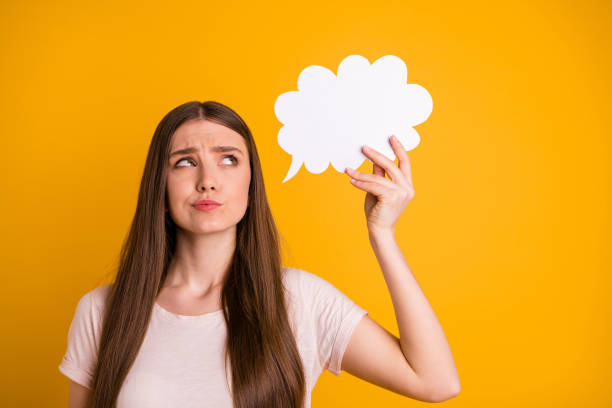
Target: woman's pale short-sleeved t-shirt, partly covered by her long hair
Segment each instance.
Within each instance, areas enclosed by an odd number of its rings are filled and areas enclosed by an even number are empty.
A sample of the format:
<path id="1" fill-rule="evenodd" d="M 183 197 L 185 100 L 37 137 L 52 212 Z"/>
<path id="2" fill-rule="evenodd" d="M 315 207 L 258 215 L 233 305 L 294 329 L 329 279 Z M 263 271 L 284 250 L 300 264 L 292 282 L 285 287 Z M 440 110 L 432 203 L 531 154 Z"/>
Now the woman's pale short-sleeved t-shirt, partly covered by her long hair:
<path id="1" fill-rule="evenodd" d="M 309 408 L 310 394 L 323 370 L 340 375 L 351 334 L 368 312 L 315 274 L 288 267 L 283 271 L 290 295 L 290 324 L 306 378 L 305 407 Z M 68 348 L 59 365 L 64 375 L 88 388 L 109 289 L 110 285 L 99 286 L 79 300 L 68 332 Z M 223 355 L 226 337 L 221 310 L 186 316 L 155 303 L 144 342 L 119 392 L 117 408 L 232 407 Z"/>

